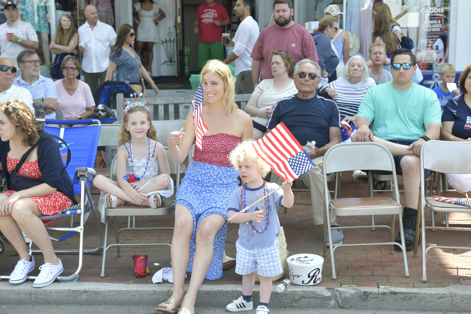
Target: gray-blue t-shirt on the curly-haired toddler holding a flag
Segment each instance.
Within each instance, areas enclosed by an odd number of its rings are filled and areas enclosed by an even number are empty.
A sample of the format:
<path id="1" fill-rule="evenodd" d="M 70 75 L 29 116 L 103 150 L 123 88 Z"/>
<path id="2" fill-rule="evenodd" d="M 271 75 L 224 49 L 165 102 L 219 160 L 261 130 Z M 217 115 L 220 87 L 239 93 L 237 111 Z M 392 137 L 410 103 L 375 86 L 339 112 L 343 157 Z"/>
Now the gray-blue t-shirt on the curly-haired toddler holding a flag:
<path id="1" fill-rule="evenodd" d="M 276 183 L 267 182 L 267 194 L 273 192 L 278 188 L 279 185 Z M 242 186 L 238 187 L 234 193 L 232 193 L 231 201 L 229 202 L 228 210 L 234 211 L 244 211 L 242 209 Z M 258 201 L 263 197 L 263 185 L 258 188 L 245 189 L 245 207 L 249 206 L 255 201 Z M 267 229 L 263 233 L 253 232 L 248 223 L 242 223 L 239 227 L 239 244 L 242 244 L 246 248 L 257 249 L 267 247 L 273 244 L 276 241 L 276 238 L 280 234 L 280 222 L 278 220 L 278 215 L 276 213 L 275 204 L 283 207 L 281 205 L 281 200 L 283 199 L 283 189 L 279 189 L 275 193 L 268 196 L 268 225 Z M 260 201 L 256 205 L 249 208 L 249 212 L 254 212 L 256 210 L 265 209 L 265 201 Z M 252 225 L 255 230 L 262 230 L 267 220 L 266 211 L 262 214 L 264 217 L 260 223 L 252 221 Z"/>

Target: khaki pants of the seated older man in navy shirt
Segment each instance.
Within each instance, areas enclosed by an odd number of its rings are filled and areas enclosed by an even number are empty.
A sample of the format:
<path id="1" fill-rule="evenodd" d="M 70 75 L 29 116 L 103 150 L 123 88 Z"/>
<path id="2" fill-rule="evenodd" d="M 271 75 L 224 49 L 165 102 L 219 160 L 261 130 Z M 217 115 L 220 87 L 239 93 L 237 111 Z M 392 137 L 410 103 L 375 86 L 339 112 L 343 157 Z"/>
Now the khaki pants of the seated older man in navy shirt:
<path id="1" fill-rule="evenodd" d="M 324 156 L 319 156 L 314 158 L 312 161 L 314 163 L 319 162 L 324 159 Z M 303 174 L 301 177 L 302 182 L 311 190 L 311 203 L 312 203 L 312 217 L 314 225 L 324 225 L 324 213 L 325 213 L 325 199 L 324 199 L 324 179 L 322 177 L 322 163 L 319 166 L 316 166 L 310 169 L 308 172 Z M 270 182 L 281 185 L 283 179 L 279 177 L 276 173 L 271 173 Z M 330 193 L 329 200 L 330 198 Z M 330 212 L 330 221 L 335 222 L 337 217 Z"/>

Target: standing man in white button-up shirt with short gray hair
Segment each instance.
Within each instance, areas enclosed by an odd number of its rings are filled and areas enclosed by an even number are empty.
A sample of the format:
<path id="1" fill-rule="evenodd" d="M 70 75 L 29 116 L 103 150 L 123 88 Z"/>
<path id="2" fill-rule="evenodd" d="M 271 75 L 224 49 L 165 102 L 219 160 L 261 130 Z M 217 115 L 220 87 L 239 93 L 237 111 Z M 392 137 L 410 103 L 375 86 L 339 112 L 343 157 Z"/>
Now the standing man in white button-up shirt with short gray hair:
<path id="1" fill-rule="evenodd" d="M 83 10 L 87 22 L 78 29 L 79 50 L 83 52 L 82 71 L 85 83 L 93 93 L 98 85 L 105 82 L 111 49 L 114 47 L 116 32 L 110 25 L 98 21 L 98 11 L 89 4 Z"/>

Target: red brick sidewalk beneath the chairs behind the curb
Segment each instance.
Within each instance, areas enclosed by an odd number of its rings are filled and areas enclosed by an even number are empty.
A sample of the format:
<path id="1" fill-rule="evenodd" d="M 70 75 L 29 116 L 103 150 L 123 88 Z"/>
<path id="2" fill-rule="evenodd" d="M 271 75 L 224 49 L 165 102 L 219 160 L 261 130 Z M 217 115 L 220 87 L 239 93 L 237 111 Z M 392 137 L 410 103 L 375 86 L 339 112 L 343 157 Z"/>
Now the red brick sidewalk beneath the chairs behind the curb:
<path id="1" fill-rule="evenodd" d="M 304 186 L 304 185 L 303 185 Z M 399 183 L 399 189 L 402 183 Z M 332 188 L 331 188 L 332 189 Z M 96 190 L 95 190 L 96 191 Z M 382 193 L 390 195 L 390 193 Z M 448 193 L 448 196 L 459 194 Z M 342 197 L 365 197 L 366 181 L 353 182 L 350 172 L 342 174 Z M 402 195 L 403 197 L 403 195 Z M 97 201 L 97 195 L 94 196 Z M 296 201 L 309 202 L 309 192 L 296 192 Z M 280 224 L 284 227 L 287 248 L 289 255 L 298 253 L 314 253 L 322 256 L 322 225 L 312 225 L 312 212 L 310 206 L 294 205 L 287 213 L 278 213 Z M 65 219 L 64 219 L 65 220 Z M 95 248 L 98 245 L 99 237 L 95 230 L 93 219 L 90 217 L 86 224 L 85 248 Z M 430 223 L 430 211 L 426 212 L 426 220 Z M 136 217 L 136 225 L 144 226 L 173 226 L 174 214 L 165 217 Z M 337 221 L 342 226 L 354 224 L 369 224 L 370 217 L 338 217 Z M 445 217 L 443 213 L 435 215 L 436 224 L 443 224 Z M 466 225 L 471 224 L 470 214 L 450 214 L 450 224 Z M 375 216 L 375 222 L 379 224 L 390 224 L 390 216 Z M 68 223 L 68 221 L 56 222 L 56 225 Z M 119 217 L 119 227 L 124 227 L 127 217 Z M 396 223 L 396 226 L 398 224 Z M 104 225 L 102 224 L 103 230 Z M 229 224 L 227 228 L 227 240 L 237 239 L 238 225 Z M 398 229 L 396 228 L 395 234 Z M 59 237 L 63 233 L 50 232 L 52 237 Z M 171 242 L 172 231 L 130 231 L 122 233 L 122 242 Z M 387 229 L 351 229 L 344 231 L 344 243 L 362 241 L 387 241 L 389 233 Z M 2 235 L 2 238 L 5 237 Z M 109 243 L 114 241 L 114 232 L 110 228 Z M 461 235 L 458 231 L 427 231 L 427 242 L 448 246 L 471 246 L 471 239 Z M 56 249 L 74 249 L 78 244 L 78 237 L 73 236 L 65 242 L 54 242 Z M 9 242 L 6 241 L 7 249 L 0 254 L 1 274 L 9 274 L 17 261 L 16 252 Z M 226 244 L 228 256 L 235 257 L 235 244 Z M 330 258 L 325 257 L 323 280 L 319 286 L 336 288 L 341 286 L 392 286 L 392 287 L 444 287 L 450 284 L 471 284 L 471 252 L 465 250 L 430 250 L 427 258 L 428 282 L 422 282 L 422 258 L 419 247 L 418 257 L 412 256 L 412 251 L 407 252 L 410 277 L 404 277 L 404 265 L 402 253 L 395 250 L 394 254 L 389 253 L 389 246 L 365 246 L 365 247 L 343 247 L 335 251 L 337 280 L 331 279 Z M 148 267 L 151 271 L 146 278 L 137 279 L 134 277 L 134 270 L 131 256 L 134 254 L 147 254 L 149 256 Z M 59 257 L 65 265 L 65 274 L 73 273 L 78 265 L 76 255 L 61 254 Z M 36 254 L 37 263 L 42 262 L 41 256 Z M 114 282 L 114 283 L 152 283 L 152 275 L 161 267 L 170 267 L 170 247 L 124 247 L 122 257 L 116 257 L 116 249 L 108 250 L 106 259 L 106 277 L 101 278 L 102 255 L 85 255 L 83 268 L 79 281 L 82 282 Z M 159 263 L 159 266 L 154 266 Z M 32 273 L 39 272 L 37 269 Z M 224 277 L 219 280 L 205 280 L 204 284 L 241 284 L 242 276 L 235 274 L 234 269 L 225 270 Z M 285 275 L 287 277 L 287 275 Z M 189 281 L 189 278 L 187 278 Z M 188 283 L 188 282 L 187 282 Z M 168 284 L 168 283 L 167 283 Z M 277 283 L 275 283 L 277 284 Z"/>

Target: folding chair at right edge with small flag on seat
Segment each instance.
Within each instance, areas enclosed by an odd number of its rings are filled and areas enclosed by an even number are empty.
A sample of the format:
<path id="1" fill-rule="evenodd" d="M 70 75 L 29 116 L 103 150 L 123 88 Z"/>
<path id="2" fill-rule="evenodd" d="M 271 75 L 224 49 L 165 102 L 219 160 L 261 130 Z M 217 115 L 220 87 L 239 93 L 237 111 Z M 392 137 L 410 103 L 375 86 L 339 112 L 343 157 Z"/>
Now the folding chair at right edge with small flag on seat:
<path id="1" fill-rule="evenodd" d="M 425 184 L 423 169 L 430 169 L 441 173 L 466 174 L 471 173 L 471 142 L 447 142 L 447 141 L 428 141 L 425 142 L 420 150 L 420 211 L 417 211 L 417 227 L 419 230 L 417 237 L 422 232 L 422 281 L 427 281 L 427 252 L 430 249 L 459 249 L 471 250 L 471 247 L 441 246 L 432 244 L 427 247 L 425 242 L 426 229 L 435 230 L 458 230 L 471 231 L 471 228 L 427 226 L 425 225 L 425 205 L 427 205 L 433 217 L 433 211 L 445 213 L 469 213 L 470 208 L 445 202 L 435 201 L 433 197 L 425 197 Z M 420 217 L 419 217 L 420 216 Z M 419 218 L 422 228 L 419 229 Z M 414 257 L 417 256 L 417 241 L 414 245 Z"/>

